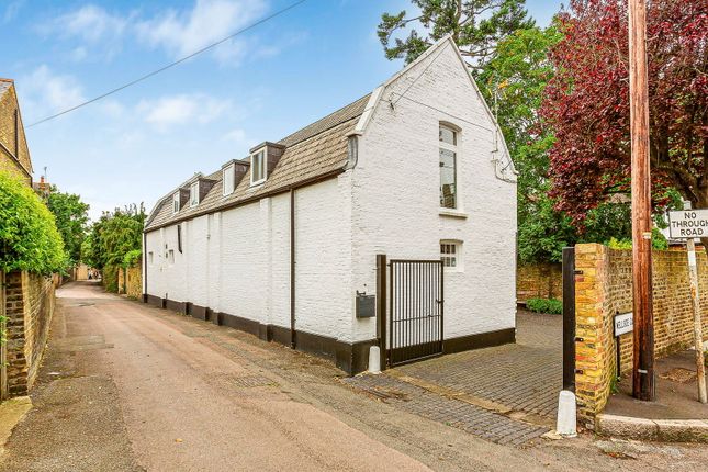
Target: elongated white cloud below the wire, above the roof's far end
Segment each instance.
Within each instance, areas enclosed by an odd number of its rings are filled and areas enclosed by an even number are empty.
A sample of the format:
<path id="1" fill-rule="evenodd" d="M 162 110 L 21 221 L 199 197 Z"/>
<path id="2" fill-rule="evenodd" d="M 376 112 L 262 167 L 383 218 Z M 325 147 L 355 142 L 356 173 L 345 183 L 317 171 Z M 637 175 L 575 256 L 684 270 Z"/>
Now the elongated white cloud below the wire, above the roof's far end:
<path id="1" fill-rule="evenodd" d="M 187 123 L 206 124 L 232 109 L 228 100 L 217 100 L 201 93 L 143 100 L 136 112 L 160 131 Z"/>

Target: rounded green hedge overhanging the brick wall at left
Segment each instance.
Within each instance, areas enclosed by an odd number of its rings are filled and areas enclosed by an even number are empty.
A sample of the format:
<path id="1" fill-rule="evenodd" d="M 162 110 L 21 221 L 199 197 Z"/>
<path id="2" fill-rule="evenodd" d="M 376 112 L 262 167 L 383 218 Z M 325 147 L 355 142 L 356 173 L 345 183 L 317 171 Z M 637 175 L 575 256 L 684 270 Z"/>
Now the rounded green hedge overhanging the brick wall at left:
<path id="1" fill-rule="evenodd" d="M 48 274 L 65 267 L 52 212 L 24 182 L 0 172 L 0 270 Z"/>

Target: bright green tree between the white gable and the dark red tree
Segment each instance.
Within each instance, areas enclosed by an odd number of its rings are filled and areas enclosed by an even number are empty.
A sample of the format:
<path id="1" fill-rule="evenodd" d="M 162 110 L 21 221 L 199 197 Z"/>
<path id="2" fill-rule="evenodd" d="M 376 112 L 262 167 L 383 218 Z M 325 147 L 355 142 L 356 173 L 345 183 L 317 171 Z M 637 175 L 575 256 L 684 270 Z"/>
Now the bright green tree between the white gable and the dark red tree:
<path id="1" fill-rule="evenodd" d="M 477 82 L 493 105 L 514 164 L 519 171 L 518 254 L 521 263 L 560 261 L 563 247 L 578 241 L 604 243 L 631 234 L 629 206 L 606 203 L 586 215 L 582 231 L 549 196 L 549 149 L 552 130 L 538 110 L 555 74 L 549 50 L 562 40 L 555 25 L 518 30 L 499 42 Z"/>

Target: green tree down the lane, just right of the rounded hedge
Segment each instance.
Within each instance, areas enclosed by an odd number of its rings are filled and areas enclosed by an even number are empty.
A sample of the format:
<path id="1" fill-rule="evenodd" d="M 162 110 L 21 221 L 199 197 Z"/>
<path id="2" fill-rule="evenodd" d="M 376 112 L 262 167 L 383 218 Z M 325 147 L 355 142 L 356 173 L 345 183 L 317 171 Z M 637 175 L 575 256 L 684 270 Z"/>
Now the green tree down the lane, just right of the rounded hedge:
<path id="1" fill-rule="evenodd" d="M 88 231 L 89 205 L 77 194 L 59 192 L 56 186 L 52 187 L 46 196 L 46 204 L 54 213 L 69 263 L 75 265 L 81 259 L 81 244 Z"/>

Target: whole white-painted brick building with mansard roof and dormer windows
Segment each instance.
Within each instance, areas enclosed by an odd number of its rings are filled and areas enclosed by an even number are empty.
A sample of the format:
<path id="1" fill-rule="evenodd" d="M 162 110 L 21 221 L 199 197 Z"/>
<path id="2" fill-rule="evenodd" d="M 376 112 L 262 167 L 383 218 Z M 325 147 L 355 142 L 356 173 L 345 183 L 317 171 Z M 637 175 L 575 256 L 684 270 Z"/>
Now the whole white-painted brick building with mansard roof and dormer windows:
<path id="1" fill-rule="evenodd" d="M 170 190 L 144 300 L 367 369 L 515 340 L 516 171 L 453 41 Z M 385 260 L 383 256 L 385 255 Z"/>

